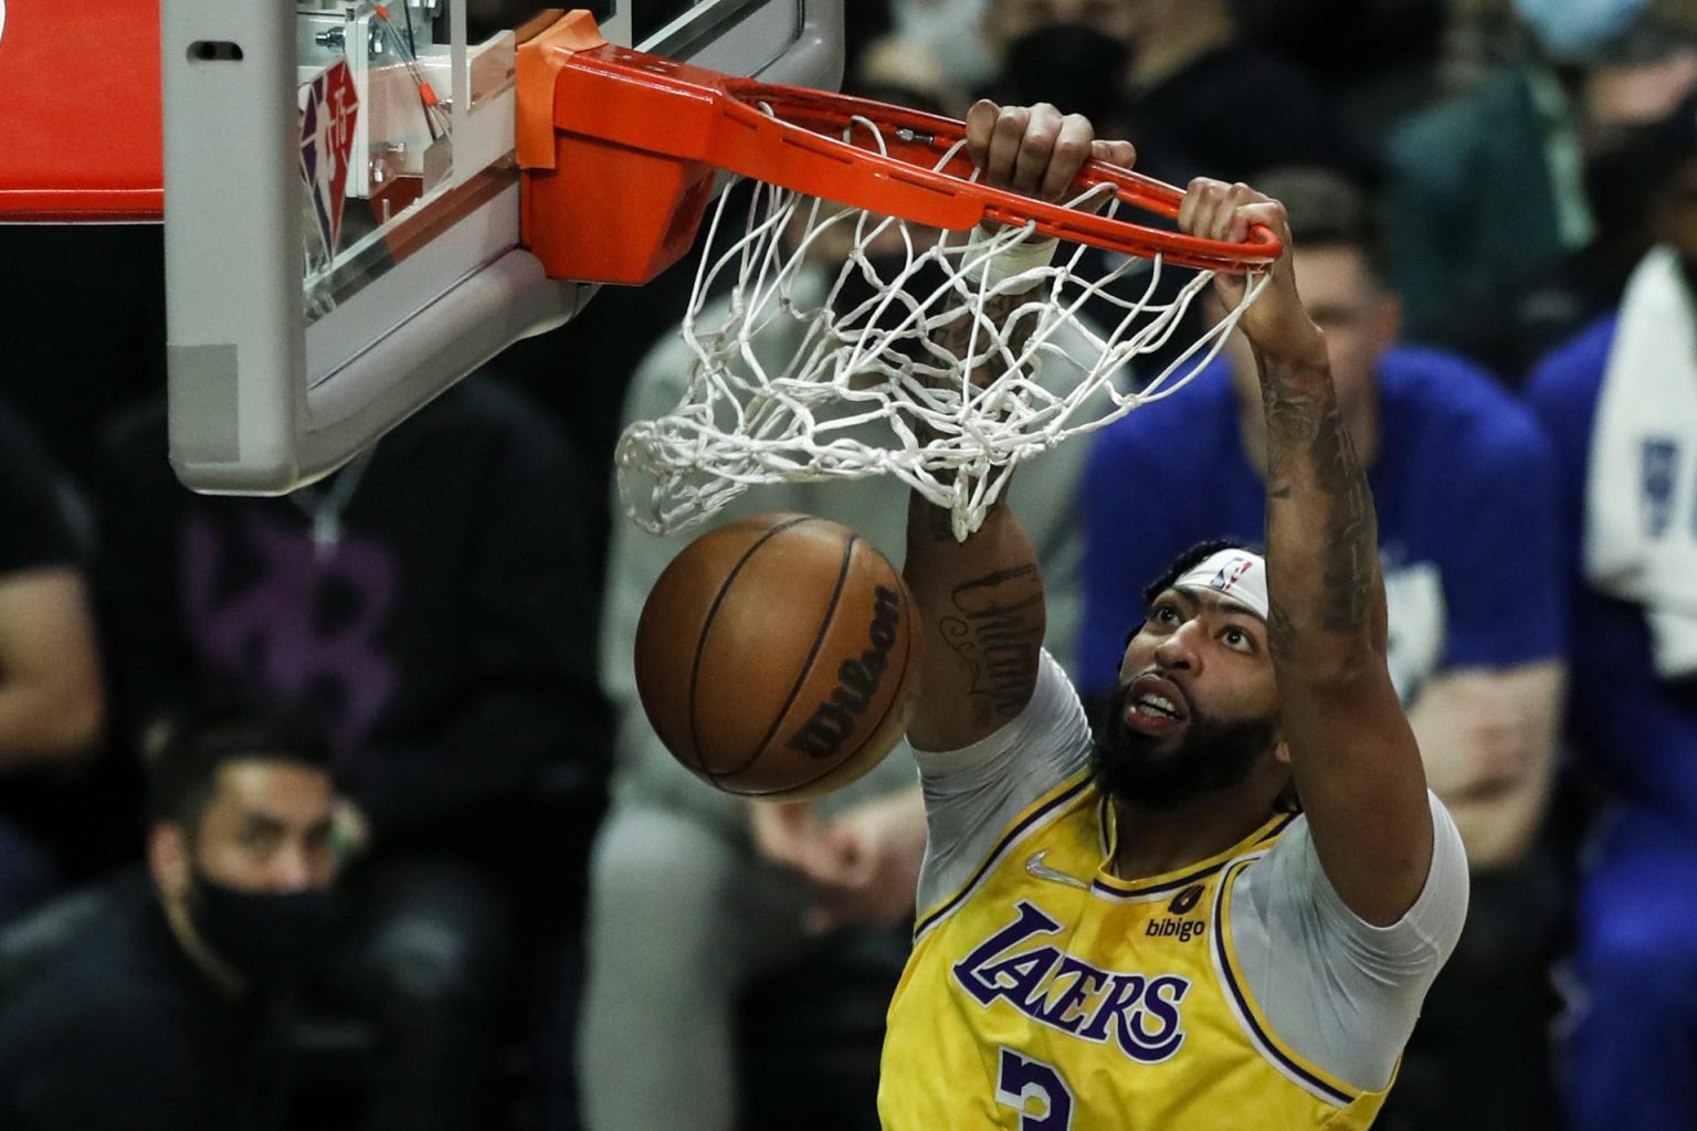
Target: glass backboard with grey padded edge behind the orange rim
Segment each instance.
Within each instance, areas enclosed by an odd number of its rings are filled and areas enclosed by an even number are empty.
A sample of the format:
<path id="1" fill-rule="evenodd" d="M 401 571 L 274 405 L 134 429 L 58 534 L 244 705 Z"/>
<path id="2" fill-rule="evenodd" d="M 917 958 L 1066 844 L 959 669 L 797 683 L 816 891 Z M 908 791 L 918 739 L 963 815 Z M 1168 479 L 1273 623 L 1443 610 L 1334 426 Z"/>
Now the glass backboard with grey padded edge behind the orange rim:
<path id="1" fill-rule="evenodd" d="M 835 88 L 842 0 L 608 0 L 619 44 Z M 501 0 L 163 5 L 171 463 L 195 490 L 326 475 L 579 314 L 519 242 Z"/>

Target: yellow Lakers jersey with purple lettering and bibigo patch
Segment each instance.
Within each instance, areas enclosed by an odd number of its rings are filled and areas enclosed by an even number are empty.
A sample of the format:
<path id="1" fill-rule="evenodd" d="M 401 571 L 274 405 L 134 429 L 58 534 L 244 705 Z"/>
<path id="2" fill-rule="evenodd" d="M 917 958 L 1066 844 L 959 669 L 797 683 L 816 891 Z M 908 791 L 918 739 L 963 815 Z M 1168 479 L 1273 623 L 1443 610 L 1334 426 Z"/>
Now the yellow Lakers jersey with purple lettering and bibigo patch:
<path id="1" fill-rule="evenodd" d="M 1241 977 L 1232 885 L 1291 816 L 1171 875 L 1110 875 L 1112 805 L 1079 773 L 920 919 L 889 1007 L 886 1131 L 1366 1128 L 1361 1092 L 1286 1048 Z"/>

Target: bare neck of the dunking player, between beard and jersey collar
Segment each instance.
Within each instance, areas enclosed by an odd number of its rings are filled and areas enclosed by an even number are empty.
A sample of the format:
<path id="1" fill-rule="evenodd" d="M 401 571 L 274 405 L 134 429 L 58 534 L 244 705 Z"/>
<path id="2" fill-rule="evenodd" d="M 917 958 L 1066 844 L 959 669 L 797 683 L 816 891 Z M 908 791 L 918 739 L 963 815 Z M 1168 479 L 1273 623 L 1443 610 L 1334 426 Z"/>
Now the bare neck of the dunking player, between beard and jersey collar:
<path id="1" fill-rule="evenodd" d="M 1113 875 L 1144 880 L 1218 856 L 1268 822 L 1276 797 L 1276 790 L 1269 794 L 1246 782 L 1178 809 L 1145 809 L 1115 799 Z"/>

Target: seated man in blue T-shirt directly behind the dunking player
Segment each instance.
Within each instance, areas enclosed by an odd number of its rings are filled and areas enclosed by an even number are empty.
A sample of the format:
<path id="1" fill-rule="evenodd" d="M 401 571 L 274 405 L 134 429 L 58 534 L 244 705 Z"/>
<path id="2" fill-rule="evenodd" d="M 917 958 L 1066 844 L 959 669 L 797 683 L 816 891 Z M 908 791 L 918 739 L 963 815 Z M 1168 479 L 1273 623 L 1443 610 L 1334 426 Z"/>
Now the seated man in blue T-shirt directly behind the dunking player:
<path id="1" fill-rule="evenodd" d="M 1471 365 L 1395 344 L 1400 307 L 1359 192 L 1317 170 L 1269 175 L 1257 188 L 1290 210 L 1298 287 L 1325 331 L 1339 410 L 1378 505 L 1392 675 L 1475 875 L 1468 931 L 1427 1000 L 1403 1073 L 1410 1087 L 1393 1104 L 1432 1106 L 1403 1121 L 1412 1126 L 1546 1126 L 1537 919 L 1553 909 L 1537 905 L 1526 860 L 1563 687 L 1549 446 Z M 1142 617 L 1140 578 L 1203 539 L 1263 536 L 1257 388 L 1254 359 L 1232 337 L 1171 402 L 1098 437 L 1079 500 L 1083 690 L 1113 687 L 1123 626 Z M 1495 1006 L 1492 1024 L 1478 1021 L 1480 995 Z M 1442 1084 L 1414 1084 L 1422 1058 Z M 1461 1094 L 1476 1123 L 1444 1112 Z"/>

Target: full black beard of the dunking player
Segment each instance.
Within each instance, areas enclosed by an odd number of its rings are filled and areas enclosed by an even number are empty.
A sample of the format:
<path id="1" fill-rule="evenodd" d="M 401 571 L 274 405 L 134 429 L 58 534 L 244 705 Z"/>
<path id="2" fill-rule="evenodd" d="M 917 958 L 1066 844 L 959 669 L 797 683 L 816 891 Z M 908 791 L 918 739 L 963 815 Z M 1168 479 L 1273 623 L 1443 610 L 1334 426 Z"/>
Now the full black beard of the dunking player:
<path id="1" fill-rule="evenodd" d="M 1120 694 L 1095 704 L 1091 773 L 1115 800 L 1156 811 L 1232 788 L 1249 777 L 1278 729 L 1276 716 L 1215 719 L 1191 710 L 1179 743 L 1161 749 L 1162 739 L 1125 726 L 1123 710 Z"/>

